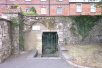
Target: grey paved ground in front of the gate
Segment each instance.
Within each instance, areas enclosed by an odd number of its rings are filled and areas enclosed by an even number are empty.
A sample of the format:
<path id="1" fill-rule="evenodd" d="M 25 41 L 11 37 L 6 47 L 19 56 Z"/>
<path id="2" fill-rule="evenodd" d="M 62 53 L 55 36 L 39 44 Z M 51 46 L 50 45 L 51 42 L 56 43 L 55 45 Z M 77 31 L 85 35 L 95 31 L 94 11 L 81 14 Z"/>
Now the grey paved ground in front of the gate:
<path id="1" fill-rule="evenodd" d="M 30 52 L 13 55 L 0 64 L 0 68 L 71 68 L 61 58 L 28 58 Z"/>

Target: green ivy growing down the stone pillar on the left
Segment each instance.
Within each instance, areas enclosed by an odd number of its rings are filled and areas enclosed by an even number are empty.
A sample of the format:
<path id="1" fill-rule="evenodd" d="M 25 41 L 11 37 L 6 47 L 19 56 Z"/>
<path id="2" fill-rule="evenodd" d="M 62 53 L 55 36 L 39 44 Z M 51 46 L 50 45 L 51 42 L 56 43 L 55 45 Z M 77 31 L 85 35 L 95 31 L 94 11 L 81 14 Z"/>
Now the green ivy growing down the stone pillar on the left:
<path id="1" fill-rule="evenodd" d="M 23 15 L 21 15 L 22 17 Z M 15 36 L 15 37 L 19 37 L 19 48 L 20 50 L 23 50 L 23 35 L 22 35 L 22 29 L 23 29 L 23 19 L 22 18 L 15 18 L 15 17 L 11 17 L 10 18 L 10 21 L 12 22 L 12 25 L 11 25 L 11 39 L 13 39 L 13 31 L 14 31 L 14 28 L 16 27 L 19 27 L 20 30 L 19 30 L 19 36 Z M 12 53 L 14 52 L 14 45 L 12 45 Z"/>

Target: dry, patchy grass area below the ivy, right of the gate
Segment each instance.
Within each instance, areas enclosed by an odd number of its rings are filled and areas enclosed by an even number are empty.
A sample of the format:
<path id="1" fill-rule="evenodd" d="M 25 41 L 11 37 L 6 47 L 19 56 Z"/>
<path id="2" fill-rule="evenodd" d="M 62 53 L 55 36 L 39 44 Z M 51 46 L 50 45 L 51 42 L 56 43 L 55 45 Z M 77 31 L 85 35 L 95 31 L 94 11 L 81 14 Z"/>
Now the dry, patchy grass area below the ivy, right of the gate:
<path id="1" fill-rule="evenodd" d="M 68 45 L 68 53 L 74 57 L 73 63 L 102 68 L 102 45 L 99 43 Z"/>

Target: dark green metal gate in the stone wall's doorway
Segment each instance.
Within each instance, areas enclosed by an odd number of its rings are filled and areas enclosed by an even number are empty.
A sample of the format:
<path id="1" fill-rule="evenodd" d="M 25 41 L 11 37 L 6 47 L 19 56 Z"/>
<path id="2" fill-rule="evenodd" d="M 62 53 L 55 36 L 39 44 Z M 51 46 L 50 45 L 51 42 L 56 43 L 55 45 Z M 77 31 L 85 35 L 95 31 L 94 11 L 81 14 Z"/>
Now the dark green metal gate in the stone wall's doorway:
<path id="1" fill-rule="evenodd" d="M 53 54 L 58 48 L 57 32 L 43 32 L 42 35 L 42 52 L 43 54 Z"/>

